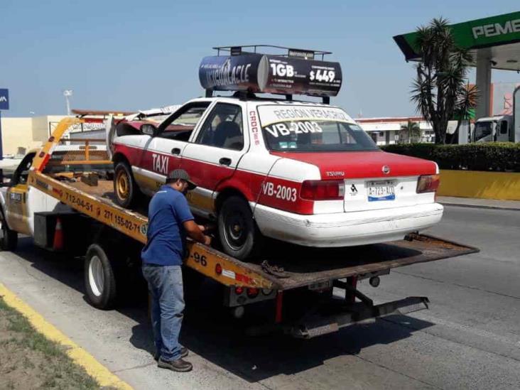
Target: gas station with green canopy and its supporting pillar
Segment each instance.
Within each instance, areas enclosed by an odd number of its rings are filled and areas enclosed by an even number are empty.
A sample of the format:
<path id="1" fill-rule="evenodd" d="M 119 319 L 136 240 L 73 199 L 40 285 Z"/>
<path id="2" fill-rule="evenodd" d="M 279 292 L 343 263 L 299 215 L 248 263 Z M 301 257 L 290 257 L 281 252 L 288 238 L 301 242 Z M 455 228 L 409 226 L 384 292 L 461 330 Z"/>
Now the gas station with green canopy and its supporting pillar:
<path id="1" fill-rule="evenodd" d="M 472 66 L 477 68 L 476 85 L 480 92 L 476 118 L 489 117 L 492 115 L 492 69 L 520 72 L 520 11 L 456 23 L 450 28 L 455 43 L 473 54 Z M 394 36 L 407 62 L 421 60 L 416 36 L 416 32 Z"/>

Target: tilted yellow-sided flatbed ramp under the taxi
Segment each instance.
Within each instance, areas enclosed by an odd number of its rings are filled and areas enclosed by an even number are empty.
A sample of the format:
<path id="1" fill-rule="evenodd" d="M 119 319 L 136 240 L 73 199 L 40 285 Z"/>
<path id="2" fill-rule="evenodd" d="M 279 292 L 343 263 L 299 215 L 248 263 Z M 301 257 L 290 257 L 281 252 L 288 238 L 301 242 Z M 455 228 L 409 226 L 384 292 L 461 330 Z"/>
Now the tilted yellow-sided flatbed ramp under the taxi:
<path id="1" fill-rule="evenodd" d="M 146 243 L 148 219 L 144 212 L 126 210 L 113 201 L 113 184 L 98 180 L 87 185 L 80 180 L 64 182 L 49 175 L 31 172 L 29 183 L 58 198 L 73 209 Z M 266 273 L 259 264 L 239 261 L 216 249 L 190 242 L 186 265 L 226 286 L 274 288 L 279 291 L 310 286 L 350 276 L 369 277 L 409 264 L 448 259 L 477 251 L 454 242 L 414 234 L 410 241 L 340 249 L 314 249 L 281 243 L 271 250 L 269 262 L 283 266 L 287 278 Z"/>

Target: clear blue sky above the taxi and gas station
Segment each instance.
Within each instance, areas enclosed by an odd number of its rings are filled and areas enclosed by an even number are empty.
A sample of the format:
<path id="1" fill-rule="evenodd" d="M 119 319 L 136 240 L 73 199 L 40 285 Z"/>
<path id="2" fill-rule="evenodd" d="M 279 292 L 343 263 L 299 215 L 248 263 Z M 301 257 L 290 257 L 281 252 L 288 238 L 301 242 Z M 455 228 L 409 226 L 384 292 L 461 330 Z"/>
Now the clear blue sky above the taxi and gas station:
<path id="1" fill-rule="evenodd" d="M 459 23 L 518 9 L 518 0 L 0 0 L 2 115 L 66 114 L 66 89 L 77 109 L 181 104 L 203 94 L 198 65 L 213 46 L 263 43 L 332 51 L 343 73 L 332 104 L 352 117 L 409 116 L 413 64 L 392 36 L 438 16 Z M 520 82 L 517 72 L 492 77 Z"/>

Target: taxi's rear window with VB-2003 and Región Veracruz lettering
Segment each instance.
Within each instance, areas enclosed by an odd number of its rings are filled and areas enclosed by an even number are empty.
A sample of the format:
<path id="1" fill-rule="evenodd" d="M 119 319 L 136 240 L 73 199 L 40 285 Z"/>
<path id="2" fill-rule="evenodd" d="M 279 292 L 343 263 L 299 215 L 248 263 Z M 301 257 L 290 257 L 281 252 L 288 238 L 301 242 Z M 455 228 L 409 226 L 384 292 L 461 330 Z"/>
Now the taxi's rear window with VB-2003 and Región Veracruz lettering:
<path id="1" fill-rule="evenodd" d="M 260 106 L 272 151 L 373 151 L 377 145 L 345 112 L 334 107 Z"/>

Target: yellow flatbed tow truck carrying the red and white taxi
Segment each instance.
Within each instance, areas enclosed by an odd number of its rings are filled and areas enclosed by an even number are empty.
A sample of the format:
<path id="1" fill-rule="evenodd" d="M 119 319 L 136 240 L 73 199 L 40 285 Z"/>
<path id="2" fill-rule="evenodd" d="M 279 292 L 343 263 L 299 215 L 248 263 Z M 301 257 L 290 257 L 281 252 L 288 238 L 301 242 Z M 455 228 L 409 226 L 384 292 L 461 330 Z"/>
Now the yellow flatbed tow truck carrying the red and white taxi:
<path id="1" fill-rule="evenodd" d="M 110 177 L 92 179 L 92 174 L 87 172 L 64 175 L 45 170 L 53 161 L 56 147 L 70 144 L 70 139 L 64 137 L 70 127 L 95 120 L 99 121 L 99 117 L 92 119 L 88 112 L 83 112 L 80 117 L 60 121 L 53 135 L 36 153 L 27 185 L 58 200 L 58 205 L 66 205 L 35 212 L 35 243 L 46 249 L 72 249 L 76 254 L 82 253 L 87 297 L 95 307 L 107 309 L 114 306 L 122 286 L 135 280 L 131 275 L 139 270 L 140 249 L 146 243 L 146 211 L 126 210 L 116 205 Z M 110 162 L 100 158 L 99 153 L 96 156 L 92 153 L 92 143 L 99 139 L 80 141 L 85 143 L 80 148 L 82 156 L 72 153 L 70 161 L 60 163 L 95 166 Z M 10 191 L 7 190 L 7 198 L 14 197 Z M 26 200 L 25 195 L 20 199 Z M 9 207 L 9 202 L 4 207 Z M 1 210 L 4 235 L 8 232 L 12 237 L 13 227 L 6 226 L 5 212 Z M 411 234 L 398 242 L 339 249 L 309 249 L 276 242 L 271 245 L 266 260 L 283 267 L 285 277 L 281 278 L 261 264 L 239 261 L 212 247 L 188 242 L 185 267 L 220 283 L 224 289 L 223 304 L 237 318 L 244 314 L 244 306 L 253 310 L 254 303 L 271 301 L 271 321 L 249 328 L 251 334 L 282 330 L 293 337 L 311 338 L 384 315 L 428 308 L 426 297 L 375 305 L 357 289 L 358 281 L 369 279 L 375 287 L 379 285 L 379 276 L 388 274 L 391 269 L 477 251 L 425 234 Z M 335 294 L 333 288 L 336 288 Z M 338 291 L 341 298 L 337 296 Z"/>

